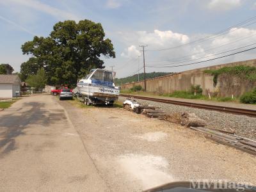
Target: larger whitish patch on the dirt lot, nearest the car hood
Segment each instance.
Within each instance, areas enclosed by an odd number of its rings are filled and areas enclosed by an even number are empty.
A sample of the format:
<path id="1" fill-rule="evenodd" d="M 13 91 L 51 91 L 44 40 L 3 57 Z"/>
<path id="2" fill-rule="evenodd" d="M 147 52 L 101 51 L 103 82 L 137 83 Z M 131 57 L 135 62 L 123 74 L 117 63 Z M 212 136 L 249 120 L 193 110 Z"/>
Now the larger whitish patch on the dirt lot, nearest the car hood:
<path id="1" fill-rule="evenodd" d="M 141 182 L 144 189 L 173 182 L 172 175 L 164 172 L 168 168 L 168 161 L 161 156 L 126 154 L 119 156 L 118 164 L 132 180 Z"/>

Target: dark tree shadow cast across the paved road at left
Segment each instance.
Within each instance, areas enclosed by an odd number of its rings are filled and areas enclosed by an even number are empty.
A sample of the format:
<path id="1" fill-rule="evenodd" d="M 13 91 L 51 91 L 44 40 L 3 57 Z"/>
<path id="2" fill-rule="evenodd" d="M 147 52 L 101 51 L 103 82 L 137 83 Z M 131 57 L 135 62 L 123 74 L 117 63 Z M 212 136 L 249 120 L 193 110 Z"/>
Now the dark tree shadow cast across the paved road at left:
<path id="1" fill-rule="evenodd" d="M 15 138 L 26 134 L 24 129 L 28 125 L 30 129 L 40 129 L 36 125 L 48 127 L 66 118 L 63 110 L 45 110 L 44 106 L 42 102 L 27 102 L 22 105 L 21 109 L 25 109 L 24 111 L 13 111 L 0 116 L 0 157 L 17 148 Z"/>

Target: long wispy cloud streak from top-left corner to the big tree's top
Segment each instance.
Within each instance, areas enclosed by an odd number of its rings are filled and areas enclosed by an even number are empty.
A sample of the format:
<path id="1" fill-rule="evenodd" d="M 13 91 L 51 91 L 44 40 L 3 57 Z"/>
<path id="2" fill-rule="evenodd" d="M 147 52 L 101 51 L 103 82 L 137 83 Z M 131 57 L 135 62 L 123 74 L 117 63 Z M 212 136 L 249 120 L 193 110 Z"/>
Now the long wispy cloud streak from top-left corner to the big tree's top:
<path id="1" fill-rule="evenodd" d="M 65 10 L 60 10 L 58 8 L 54 8 L 48 4 L 41 3 L 40 1 L 37 0 L 9 0 L 9 1 L 4 1 L 0 0 L 1 4 L 4 5 L 16 5 L 16 6 L 24 6 L 26 8 L 31 8 L 33 10 L 39 11 L 39 12 L 44 12 L 49 15 L 52 15 L 53 17 L 56 17 L 56 19 L 70 19 L 70 20 L 79 20 L 79 17 L 73 13 L 66 12 Z M 20 8 L 20 7 L 19 7 Z"/>

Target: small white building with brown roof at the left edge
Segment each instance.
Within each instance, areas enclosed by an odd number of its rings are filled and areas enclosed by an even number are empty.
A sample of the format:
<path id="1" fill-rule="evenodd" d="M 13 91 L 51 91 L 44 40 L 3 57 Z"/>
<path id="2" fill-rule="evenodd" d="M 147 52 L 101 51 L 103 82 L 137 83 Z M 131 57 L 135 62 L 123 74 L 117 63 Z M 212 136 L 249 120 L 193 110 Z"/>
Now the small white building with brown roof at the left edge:
<path id="1" fill-rule="evenodd" d="M 0 75 L 0 98 L 11 98 L 20 92 L 20 78 L 17 75 Z"/>

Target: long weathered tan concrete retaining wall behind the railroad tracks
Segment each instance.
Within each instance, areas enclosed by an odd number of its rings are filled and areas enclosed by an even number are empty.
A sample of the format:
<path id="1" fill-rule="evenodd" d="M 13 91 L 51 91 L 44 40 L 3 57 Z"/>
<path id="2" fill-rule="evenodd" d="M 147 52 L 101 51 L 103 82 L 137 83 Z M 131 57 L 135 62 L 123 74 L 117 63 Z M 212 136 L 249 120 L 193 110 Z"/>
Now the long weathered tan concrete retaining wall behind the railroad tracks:
<path id="1" fill-rule="evenodd" d="M 232 94 L 235 97 L 239 97 L 244 92 L 248 92 L 248 90 L 252 89 L 253 86 L 256 86 L 256 84 L 252 84 L 249 81 L 238 81 L 235 79 L 236 77 L 229 77 L 229 79 L 218 77 L 218 83 L 216 86 L 214 86 L 213 76 L 210 74 L 205 74 L 204 72 L 204 70 L 207 69 L 218 69 L 236 65 L 250 65 L 256 67 L 256 60 L 225 63 L 221 65 L 214 65 L 212 67 L 188 70 L 185 72 L 180 72 L 179 74 L 148 79 L 146 81 L 147 92 L 172 93 L 174 91 L 189 91 L 192 85 L 195 86 L 199 84 L 203 89 L 203 94 L 205 95 L 207 95 L 209 91 L 211 94 L 219 95 L 221 97 L 231 97 Z M 123 84 L 122 90 L 132 88 L 133 86 L 139 84 L 144 87 L 144 81 L 139 81 L 135 83 Z"/>

